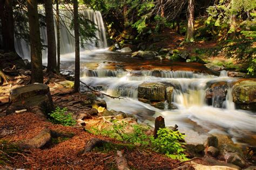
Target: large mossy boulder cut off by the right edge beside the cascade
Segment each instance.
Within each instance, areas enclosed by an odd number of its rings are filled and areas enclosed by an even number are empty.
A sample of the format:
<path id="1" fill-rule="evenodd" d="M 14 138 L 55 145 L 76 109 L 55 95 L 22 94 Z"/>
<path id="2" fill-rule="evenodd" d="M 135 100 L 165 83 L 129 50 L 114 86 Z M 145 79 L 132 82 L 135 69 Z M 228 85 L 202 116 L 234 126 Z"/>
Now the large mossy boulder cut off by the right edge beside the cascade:
<path id="1" fill-rule="evenodd" d="M 233 87 L 233 101 L 237 108 L 256 111 L 256 81 L 240 81 Z"/>

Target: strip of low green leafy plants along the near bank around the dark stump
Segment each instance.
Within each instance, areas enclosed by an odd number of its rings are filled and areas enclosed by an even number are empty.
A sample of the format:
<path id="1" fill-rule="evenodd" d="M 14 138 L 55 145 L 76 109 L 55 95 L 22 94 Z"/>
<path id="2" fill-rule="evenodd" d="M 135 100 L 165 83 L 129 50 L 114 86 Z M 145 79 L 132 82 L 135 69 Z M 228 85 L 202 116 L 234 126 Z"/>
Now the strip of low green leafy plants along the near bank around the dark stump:
<path id="1" fill-rule="evenodd" d="M 183 153 L 185 149 L 180 143 L 180 141 L 184 140 L 184 135 L 177 131 L 174 132 L 168 128 L 162 128 L 158 131 L 158 138 L 154 139 L 152 135 L 145 134 L 150 129 L 149 126 L 132 125 L 133 131 L 127 133 L 125 132 L 125 128 L 128 126 L 127 123 L 117 123 L 116 120 L 112 122 L 113 126 L 111 129 L 98 130 L 97 128 L 92 128 L 89 132 L 127 141 L 136 146 L 150 148 L 172 159 L 187 159 Z"/>

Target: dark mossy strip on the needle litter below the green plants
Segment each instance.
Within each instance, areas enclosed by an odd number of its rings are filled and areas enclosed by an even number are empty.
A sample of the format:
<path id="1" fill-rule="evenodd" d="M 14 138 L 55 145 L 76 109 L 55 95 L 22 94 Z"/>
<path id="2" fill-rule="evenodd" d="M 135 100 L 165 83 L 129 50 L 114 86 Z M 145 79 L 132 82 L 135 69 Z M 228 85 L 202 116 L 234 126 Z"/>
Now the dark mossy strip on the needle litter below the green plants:
<path id="1" fill-rule="evenodd" d="M 111 151 L 120 151 L 122 149 L 133 151 L 134 148 L 135 146 L 132 144 L 114 144 L 111 142 L 106 142 L 102 147 L 96 147 L 94 150 L 97 152 L 108 153 Z"/>

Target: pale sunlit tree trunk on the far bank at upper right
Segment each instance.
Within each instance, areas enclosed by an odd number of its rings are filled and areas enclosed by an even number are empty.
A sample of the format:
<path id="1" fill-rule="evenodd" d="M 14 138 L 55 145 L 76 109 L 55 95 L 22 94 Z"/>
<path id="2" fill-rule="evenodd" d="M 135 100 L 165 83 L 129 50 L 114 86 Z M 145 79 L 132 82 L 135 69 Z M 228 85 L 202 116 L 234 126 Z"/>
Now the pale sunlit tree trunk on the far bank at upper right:
<path id="1" fill-rule="evenodd" d="M 188 0 L 186 42 L 194 41 L 194 0 Z"/>

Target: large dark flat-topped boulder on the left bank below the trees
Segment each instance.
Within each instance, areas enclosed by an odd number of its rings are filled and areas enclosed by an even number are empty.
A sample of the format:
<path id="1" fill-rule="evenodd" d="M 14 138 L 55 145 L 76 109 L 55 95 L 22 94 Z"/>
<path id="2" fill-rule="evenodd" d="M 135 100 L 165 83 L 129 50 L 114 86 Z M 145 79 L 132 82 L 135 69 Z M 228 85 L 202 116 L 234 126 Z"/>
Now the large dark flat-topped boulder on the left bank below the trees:
<path id="1" fill-rule="evenodd" d="M 47 85 L 34 83 L 18 87 L 10 91 L 10 107 L 7 114 L 13 113 L 17 108 L 26 108 L 41 115 L 53 110 L 53 102 L 50 89 Z"/>

